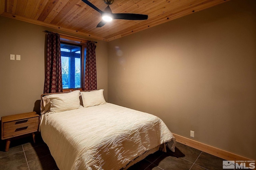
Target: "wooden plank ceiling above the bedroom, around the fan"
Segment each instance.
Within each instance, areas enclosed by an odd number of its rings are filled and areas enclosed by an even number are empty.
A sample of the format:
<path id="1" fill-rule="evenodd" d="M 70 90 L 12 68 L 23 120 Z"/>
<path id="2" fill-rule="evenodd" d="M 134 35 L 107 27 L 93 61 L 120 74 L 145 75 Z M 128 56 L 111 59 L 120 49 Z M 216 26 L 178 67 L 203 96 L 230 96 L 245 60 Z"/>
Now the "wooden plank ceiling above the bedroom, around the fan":
<path id="1" fill-rule="evenodd" d="M 89 0 L 100 10 L 103 0 Z M 0 0 L 0 14 L 46 27 L 111 41 L 182 16 L 198 12 L 228 0 L 114 0 L 113 13 L 148 15 L 148 20 L 113 20 L 96 28 L 100 13 L 82 0 Z"/>

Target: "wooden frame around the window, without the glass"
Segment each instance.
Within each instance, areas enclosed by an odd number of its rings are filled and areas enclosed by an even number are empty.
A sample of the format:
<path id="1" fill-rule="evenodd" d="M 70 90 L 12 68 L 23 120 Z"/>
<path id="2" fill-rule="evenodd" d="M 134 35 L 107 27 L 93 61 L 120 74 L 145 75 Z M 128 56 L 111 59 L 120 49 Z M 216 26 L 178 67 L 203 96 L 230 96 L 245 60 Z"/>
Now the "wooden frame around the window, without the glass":
<path id="1" fill-rule="evenodd" d="M 68 35 L 62 35 L 60 34 L 60 43 L 68 43 L 70 45 L 79 45 L 82 47 L 81 51 L 81 88 L 65 88 L 62 89 L 63 92 L 67 91 L 74 91 L 74 90 L 84 90 L 84 79 L 85 79 L 85 54 L 84 52 L 86 51 L 86 45 L 87 45 L 87 40 L 86 39 L 81 39 L 78 37 L 72 37 Z"/>

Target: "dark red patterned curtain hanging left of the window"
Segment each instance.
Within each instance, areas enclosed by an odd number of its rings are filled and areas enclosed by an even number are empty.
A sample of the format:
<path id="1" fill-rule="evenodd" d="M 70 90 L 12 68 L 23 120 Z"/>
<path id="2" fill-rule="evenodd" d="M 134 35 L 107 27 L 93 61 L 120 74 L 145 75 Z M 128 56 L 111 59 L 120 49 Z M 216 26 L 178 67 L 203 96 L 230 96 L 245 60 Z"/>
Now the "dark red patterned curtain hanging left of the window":
<path id="1" fill-rule="evenodd" d="M 62 92 L 60 35 L 48 33 L 44 93 Z"/>

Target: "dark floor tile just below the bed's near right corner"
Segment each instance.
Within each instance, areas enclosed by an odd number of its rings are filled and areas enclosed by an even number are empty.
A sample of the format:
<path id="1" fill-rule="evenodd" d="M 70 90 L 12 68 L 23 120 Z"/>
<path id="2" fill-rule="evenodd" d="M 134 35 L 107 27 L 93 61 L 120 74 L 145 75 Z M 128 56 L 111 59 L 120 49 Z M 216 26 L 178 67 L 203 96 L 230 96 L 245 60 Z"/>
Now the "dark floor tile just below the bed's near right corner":
<path id="1" fill-rule="evenodd" d="M 153 164 L 164 170 L 189 170 L 193 165 L 191 162 L 168 152 L 162 154 Z"/>

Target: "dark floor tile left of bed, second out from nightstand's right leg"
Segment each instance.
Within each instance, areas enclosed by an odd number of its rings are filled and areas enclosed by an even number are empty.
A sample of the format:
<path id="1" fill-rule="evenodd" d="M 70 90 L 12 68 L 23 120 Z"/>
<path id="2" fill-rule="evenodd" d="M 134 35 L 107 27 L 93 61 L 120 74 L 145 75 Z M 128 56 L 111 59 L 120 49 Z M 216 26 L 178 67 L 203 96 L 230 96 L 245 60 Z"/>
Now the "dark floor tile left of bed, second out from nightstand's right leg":
<path id="1" fill-rule="evenodd" d="M 47 145 L 40 145 L 38 147 L 34 147 L 28 150 L 25 150 L 25 154 L 27 157 L 28 162 L 32 161 L 32 160 L 36 160 L 39 159 L 43 156 L 46 156 L 48 154 L 50 154 L 50 150 L 48 149 Z"/>

